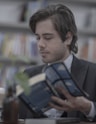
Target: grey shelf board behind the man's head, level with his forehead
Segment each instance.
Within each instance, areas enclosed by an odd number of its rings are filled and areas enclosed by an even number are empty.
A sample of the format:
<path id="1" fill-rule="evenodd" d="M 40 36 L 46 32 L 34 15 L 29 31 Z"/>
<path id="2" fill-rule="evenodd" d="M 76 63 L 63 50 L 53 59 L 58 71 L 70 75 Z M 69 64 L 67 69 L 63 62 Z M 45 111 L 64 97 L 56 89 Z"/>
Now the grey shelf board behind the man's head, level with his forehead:
<path id="1" fill-rule="evenodd" d="M 14 32 L 14 33 L 28 33 L 32 34 L 31 29 L 27 23 L 0 23 L 0 31 Z M 96 31 L 91 29 L 79 29 L 78 34 L 87 37 L 96 37 Z"/>

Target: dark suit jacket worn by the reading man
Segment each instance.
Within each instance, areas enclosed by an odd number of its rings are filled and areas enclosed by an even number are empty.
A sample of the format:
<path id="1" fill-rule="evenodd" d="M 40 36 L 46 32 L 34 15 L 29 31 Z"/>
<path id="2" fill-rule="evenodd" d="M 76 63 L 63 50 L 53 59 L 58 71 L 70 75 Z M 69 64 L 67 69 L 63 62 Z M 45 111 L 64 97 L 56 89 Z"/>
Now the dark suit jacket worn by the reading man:
<path id="1" fill-rule="evenodd" d="M 32 67 L 26 70 L 29 77 L 42 72 L 44 65 Z M 77 59 L 73 57 L 71 74 L 76 80 L 78 86 L 89 94 L 89 99 L 94 102 L 96 107 L 96 64 L 87 62 L 84 60 Z M 20 103 L 20 118 L 30 118 L 33 117 L 23 103 Z M 84 114 L 78 111 L 68 112 L 68 117 L 79 117 L 81 119 L 86 119 Z M 96 118 L 94 118 L 96 120 Z"/>

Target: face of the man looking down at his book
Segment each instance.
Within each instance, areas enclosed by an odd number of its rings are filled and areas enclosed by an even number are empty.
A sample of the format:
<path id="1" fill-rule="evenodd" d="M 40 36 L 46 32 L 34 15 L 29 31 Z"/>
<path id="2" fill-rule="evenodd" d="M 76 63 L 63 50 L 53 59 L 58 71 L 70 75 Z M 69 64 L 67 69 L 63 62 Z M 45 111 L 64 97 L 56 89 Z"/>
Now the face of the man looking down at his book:
<path id="1" fill-rule="evenodd" d="M 68 39 L 62 41 L 58 32 L 54 29 L 50 19 L 36 24 L 36 36 L 39 52 L 44 63 L 62 61 L 69 55 Z"/>

